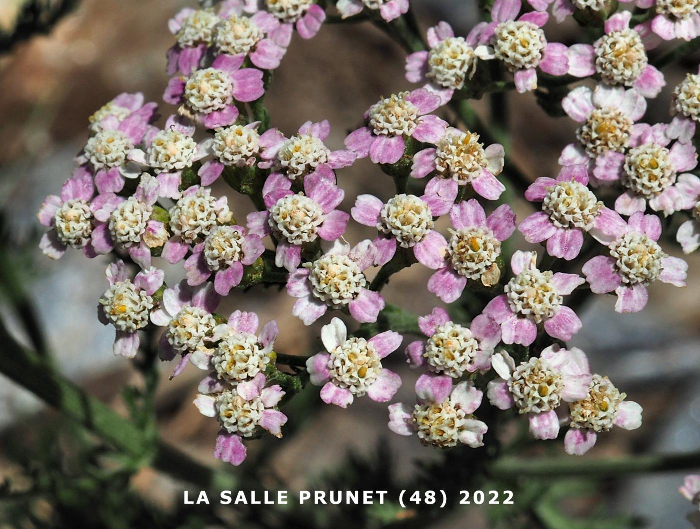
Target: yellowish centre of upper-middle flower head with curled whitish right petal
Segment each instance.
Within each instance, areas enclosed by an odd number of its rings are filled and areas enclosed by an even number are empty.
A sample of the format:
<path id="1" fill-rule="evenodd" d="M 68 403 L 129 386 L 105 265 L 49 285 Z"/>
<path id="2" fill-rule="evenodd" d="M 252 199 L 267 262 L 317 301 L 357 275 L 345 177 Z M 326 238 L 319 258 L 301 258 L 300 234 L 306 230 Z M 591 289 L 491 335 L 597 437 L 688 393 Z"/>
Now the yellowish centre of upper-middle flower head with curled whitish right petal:
<path id="1" fill-rule="evenodd" d="M 477 178 L 489 164 L 479 134 L 449 132 L 437 142 L 435 165 L 440 176 L 452 178 L 459 185 L 467 185 Z"/>

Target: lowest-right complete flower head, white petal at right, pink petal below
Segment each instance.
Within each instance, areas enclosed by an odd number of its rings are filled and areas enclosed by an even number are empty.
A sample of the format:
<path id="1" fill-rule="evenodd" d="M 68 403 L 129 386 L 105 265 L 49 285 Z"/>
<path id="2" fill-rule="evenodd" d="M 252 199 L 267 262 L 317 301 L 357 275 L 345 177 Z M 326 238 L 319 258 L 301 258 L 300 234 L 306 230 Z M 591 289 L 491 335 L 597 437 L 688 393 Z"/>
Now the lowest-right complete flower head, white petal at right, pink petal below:
<path id="1" fill-rule="evenodd" d="M 570 428 L 564 437 L 564 449 L 572 456 L 582 456 L 593 448 L 598 432 L 607 432 L 613 426 L 636 430 L 642 425 L 642 407 L 624 400 L 607 376 L 594 374 L 588 394 L 569 404 Z"/>

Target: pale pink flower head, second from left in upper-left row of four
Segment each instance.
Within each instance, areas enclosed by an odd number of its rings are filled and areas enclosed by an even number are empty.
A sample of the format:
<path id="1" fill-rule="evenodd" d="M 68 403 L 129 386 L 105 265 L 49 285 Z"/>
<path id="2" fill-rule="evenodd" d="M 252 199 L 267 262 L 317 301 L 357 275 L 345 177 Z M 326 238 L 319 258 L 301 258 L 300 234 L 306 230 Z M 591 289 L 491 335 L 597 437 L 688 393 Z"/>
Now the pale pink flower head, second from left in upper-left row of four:
<path id="1" fill-rule="evenodd" d="M 141 167 L 142 171 L 153 169 L 158 174 L 161 197 L 179 199 L 183 169 L 206 157 L 211 152 L 213 140 L 197 143 L 193 136 L 196 127 L 188 118 L 171 115 L 165 129 L 153 131 L 146 136 L 145 150 L 134 149 L 129 160 Z M 207 168 L 204 164 L 200 174 Z"/>

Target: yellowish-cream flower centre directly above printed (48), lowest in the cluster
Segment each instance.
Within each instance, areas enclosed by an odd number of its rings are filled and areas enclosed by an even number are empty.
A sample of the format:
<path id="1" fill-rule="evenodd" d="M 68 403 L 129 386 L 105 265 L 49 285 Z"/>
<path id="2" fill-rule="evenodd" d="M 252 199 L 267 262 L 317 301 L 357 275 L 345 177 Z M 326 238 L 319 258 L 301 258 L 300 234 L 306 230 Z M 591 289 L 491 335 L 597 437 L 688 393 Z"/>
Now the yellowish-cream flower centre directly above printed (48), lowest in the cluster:
<path id="1" fill-rule="evenodd" d="M 449 399 L 442 404 L 416 404 L 412 414 L 421 443 L 440 448 L 457 446 L 466 418 L 467 414 Z"/>

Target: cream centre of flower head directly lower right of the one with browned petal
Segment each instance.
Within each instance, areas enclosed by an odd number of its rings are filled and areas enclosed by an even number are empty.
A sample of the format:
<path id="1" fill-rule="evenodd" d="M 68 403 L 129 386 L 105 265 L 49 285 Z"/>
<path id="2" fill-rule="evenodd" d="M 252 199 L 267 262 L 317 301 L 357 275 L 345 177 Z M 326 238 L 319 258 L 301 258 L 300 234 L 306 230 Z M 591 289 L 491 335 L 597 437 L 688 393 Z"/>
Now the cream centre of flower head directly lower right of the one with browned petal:
<path id="1" fill-rule="evenodd" d="M 553 272 L 528 269 L 521 271 L 505 285 L 510 308 L 536 323 L 552 318 L 563 298 L 552 283 Z"/>

